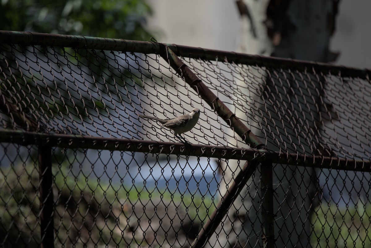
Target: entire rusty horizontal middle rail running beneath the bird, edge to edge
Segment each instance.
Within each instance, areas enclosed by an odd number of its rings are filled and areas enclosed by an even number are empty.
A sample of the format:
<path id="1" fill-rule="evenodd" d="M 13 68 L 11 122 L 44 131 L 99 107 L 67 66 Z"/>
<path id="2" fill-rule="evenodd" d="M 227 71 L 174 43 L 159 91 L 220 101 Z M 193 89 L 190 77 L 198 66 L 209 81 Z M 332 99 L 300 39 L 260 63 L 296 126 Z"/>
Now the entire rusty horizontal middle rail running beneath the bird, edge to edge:
<path id="1" fill-rule="evenodd" d="M 334 170 L 371 172 L 371 161 L 340 157 L 306 156 L 280 153 L 265 149 L 242 149 L 227 146 L 172 143 L 150 140 L 134 140 L 106 137 L 46 134 L 27 131 L 0 130 L 0 143 L 15 143 L 21 146 L 49 145 L 67 149 L 94 149 L 109 151 L 132 151 L 178 156 L 214 157 L 218 159 L 269 160 L 273 163 Z"/>

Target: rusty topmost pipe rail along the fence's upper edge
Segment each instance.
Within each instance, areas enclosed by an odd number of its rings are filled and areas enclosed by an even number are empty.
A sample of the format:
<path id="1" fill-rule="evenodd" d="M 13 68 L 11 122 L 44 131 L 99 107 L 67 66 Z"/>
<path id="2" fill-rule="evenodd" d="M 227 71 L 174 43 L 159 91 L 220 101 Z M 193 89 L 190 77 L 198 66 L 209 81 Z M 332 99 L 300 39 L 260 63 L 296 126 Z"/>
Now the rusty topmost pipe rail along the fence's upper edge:
<path id="1" fill-rule="evenodd" d="M 167 46 L 173 50 L 177 56 L 200 58 L 209 61 L 220 60 L 230 63 L 234 62 L 246 65 L 279 67 L 281 69 L 294 69 L 297 71 L 314 70 L 322 72 L 325 75 L 332 74 L 367 80 L 370 80 L 371 75 L 371 69 L 359 69 L 332 65 L 330 63 L 273 58 L 260 55 L 249 55 L 244 53 L 137 40 L 0 30 L 0 43 L 113 50 L 145 54 L 159 54 L 161 50 Z"/>

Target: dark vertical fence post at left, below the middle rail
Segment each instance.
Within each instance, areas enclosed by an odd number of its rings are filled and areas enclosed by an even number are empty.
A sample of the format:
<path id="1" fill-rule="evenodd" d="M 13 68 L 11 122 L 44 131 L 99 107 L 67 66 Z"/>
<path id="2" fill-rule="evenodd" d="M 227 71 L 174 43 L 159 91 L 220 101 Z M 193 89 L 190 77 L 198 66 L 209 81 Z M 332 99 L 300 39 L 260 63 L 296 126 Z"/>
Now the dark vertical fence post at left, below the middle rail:
<path id="1" fill-rule="evenodd" d="M 39 146 L 41 247 L 54 247 L 52 148 Z"/>

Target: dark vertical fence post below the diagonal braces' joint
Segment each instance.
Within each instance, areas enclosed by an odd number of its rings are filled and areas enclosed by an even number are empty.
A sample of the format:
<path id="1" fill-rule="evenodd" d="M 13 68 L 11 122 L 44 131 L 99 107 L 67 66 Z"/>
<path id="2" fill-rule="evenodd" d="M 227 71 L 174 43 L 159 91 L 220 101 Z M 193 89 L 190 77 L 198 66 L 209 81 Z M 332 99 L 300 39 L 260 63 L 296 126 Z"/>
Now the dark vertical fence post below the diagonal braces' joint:
<path id="1" fill-rule="evenodd" d="M 275 247 L 274 213 L 273 213 L 273 166 L 272 162 L 260 164 L 262 193 L 262 241 L 264 248 Z"/>

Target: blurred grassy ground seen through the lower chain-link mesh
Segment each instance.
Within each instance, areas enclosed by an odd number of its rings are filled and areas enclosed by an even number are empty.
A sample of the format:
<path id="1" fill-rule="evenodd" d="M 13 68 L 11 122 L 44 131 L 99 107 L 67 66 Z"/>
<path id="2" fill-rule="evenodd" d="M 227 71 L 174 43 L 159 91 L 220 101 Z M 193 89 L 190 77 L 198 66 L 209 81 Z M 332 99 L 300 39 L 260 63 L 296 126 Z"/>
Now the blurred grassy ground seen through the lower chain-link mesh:
<path id="1" fill-rule="evenodd" d="M 0 246 L 39 247 L 39 174 L 35 164 L 0 169 Z M 53 167 L 56 247 L 188 245 L 217 199 L 143 184 L 110 184 Z M 312 247 L 367 247 L 371 205 L 322 204 L 312 216 Z M 187 228 L 184 228 L 186 226 Z M 187 241 L 188 240 L 188 241 Z"/>

